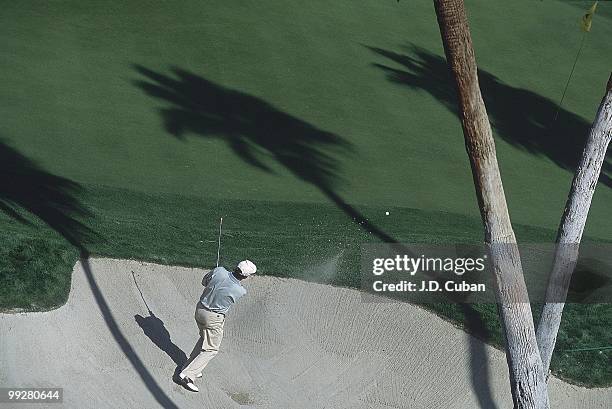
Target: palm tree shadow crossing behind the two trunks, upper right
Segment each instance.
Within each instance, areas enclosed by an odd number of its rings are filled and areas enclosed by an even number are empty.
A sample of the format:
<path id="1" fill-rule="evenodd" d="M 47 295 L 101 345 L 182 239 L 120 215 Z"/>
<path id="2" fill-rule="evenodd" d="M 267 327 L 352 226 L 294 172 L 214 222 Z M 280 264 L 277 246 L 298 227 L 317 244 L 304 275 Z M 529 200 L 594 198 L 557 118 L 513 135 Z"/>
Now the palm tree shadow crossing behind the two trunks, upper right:
<path id="1" fill-rule="evenodd" d="M 389 81 L 426 91 L 458 115 L 455 86 L 443 57 L 414 45 L 405 47 L 405 54 L 367 48 L 394 63 L 394 67 L 374 64 L 387 73 Z M 572 173 L 576 170 L 591 124 L 566 109 L 560 109 L 554 121 L 557 102 L 527 89 L 504 84 L 484 70 L 478 70 L 478 79 L 491 126 L 499 137 L 524 151 L 547 157 Z M 609 157 L 604 163 L 600 182 L 612 187 L 612 161 Z"/>

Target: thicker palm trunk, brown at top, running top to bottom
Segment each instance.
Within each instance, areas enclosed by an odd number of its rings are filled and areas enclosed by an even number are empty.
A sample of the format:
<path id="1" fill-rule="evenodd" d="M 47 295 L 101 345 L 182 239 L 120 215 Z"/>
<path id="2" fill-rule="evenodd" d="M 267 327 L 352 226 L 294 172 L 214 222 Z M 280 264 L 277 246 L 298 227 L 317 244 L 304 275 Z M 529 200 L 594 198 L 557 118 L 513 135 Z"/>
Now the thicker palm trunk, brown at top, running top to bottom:
<path id="1" fill-rule="evenodd" d="M 547 409 L 548 392 L 531 306 L 491 125 L 478 85 L 465 7 L 463 0 L 434 0 L 434 4 L 446 59 L 457 85 L 461 125 L 484 224 L 485 243 L 491 253 L 514 407 Z"/>

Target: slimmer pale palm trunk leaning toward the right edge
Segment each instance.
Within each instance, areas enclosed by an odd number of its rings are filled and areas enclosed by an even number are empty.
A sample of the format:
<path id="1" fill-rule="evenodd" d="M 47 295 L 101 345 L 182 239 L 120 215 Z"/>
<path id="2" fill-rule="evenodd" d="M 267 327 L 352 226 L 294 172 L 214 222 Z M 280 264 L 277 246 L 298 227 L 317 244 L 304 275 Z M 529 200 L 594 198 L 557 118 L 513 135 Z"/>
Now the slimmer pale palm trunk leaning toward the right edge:
<path id="1" fill-rule="evenodd" d="M 578 261 L 578 247 L 611 138 L 612 75 L 589 132 L 580 165 L 576 169 L 557 233 L 553 269 L 546 289 L 546 304 L 542 308 L 537 331 L 545 373 L 550 367 L 570 279 Z"/>

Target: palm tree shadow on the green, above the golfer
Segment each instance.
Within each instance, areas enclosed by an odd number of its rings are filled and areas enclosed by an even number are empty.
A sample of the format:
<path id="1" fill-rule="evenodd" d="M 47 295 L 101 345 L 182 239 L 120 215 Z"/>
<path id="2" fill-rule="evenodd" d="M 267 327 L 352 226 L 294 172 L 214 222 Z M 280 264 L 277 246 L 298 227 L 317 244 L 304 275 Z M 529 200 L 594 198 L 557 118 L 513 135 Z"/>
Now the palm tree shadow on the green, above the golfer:
<path id="1" fill-rule="evenodd" d="M 166 130 L 176 138 L 184 140 L 192 133 L 222 139 L 239 158 L 265 172 L 272 172 L 268 161 L 275 161 L 317 187 L 361 228 L 382 241 L 396 241 L 336 192 L 335 185 L 341 181 L 337 155 L 353 152 L 348 141 L 260 98 L 180 68 L 173 68 L 171 75 L 140 65 L 134 69 L 145 78 L 134 81 L 137 87 L 170 104 L 160 114 Z"/>

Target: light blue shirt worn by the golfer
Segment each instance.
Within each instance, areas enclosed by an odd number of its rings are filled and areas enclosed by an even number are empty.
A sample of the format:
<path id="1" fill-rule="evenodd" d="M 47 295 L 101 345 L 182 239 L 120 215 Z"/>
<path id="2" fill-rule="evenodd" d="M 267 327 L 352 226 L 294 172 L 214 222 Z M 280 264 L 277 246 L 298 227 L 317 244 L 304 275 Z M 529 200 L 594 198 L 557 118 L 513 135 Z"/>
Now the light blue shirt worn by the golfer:
<path id="1" fill-rule="evenodd" d="M 200 303 L 211 311 L 225 314 L 240 297 L 246 294 L 246 289 L 232 273 L 223 267 L 210 271 L 202 279 L 204 292 Z"/>

